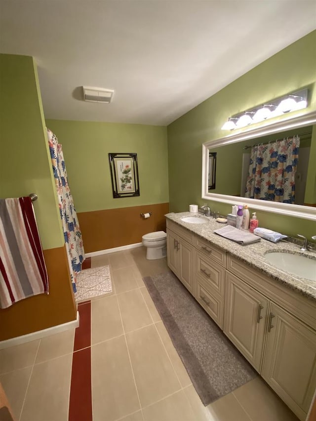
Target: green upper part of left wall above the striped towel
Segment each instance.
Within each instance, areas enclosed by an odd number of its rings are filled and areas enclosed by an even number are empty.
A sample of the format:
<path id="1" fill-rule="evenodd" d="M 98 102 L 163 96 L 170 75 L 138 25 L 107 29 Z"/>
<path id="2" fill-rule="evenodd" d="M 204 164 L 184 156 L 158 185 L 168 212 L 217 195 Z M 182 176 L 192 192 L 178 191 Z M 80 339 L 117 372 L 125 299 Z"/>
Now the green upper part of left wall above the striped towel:
<path id="1" fill-rule="evenodd" d="M 0 197 L 38 194 L 43 249 L 64 244 L 46 138 L 33 57 L 0 54 Z"/>

